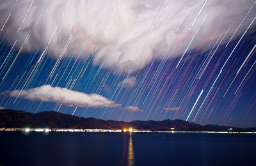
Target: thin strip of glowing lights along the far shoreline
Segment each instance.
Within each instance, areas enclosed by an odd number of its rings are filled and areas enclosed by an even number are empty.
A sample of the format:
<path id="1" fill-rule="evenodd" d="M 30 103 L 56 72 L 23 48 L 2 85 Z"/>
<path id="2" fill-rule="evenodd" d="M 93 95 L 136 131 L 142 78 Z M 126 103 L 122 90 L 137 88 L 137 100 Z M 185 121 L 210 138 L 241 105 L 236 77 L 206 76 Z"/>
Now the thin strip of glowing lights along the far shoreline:
<path id="1" fill-rule="evenodd" d="M 156 131 L 156 130 L 106 130 L 106 129 L 74 129 L 74 128 L 0 128 L 0 132 L 130 132 L 130 133 L 256 133 L 256 132 L 186 132 L 186 131 Z"/>

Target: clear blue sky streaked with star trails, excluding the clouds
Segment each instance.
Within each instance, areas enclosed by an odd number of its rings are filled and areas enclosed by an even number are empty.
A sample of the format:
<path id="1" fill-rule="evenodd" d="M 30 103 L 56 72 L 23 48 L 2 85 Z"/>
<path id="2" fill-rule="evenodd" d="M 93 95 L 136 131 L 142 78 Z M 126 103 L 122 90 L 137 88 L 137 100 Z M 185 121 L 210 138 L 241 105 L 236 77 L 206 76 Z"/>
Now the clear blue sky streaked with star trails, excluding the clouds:
<path id="1" fill-rule="evenodd" d="M 252 12 L 255 17 L 255 10 Z M 248 23 L 252 21 L 250 19 Z M 244 26 L 248 27 L 249 24 Z M 68 107 L 56 102 L 4 95 L 0 98 L 0 106 L 27 112 L 54 110 L 117 121 L 183 119 L 200 124 L 256 126 L 255 25 L 256 21 L 252 22 L 248 31 L 239 29 L 239 35 L 230 43 L 223 40 L 218 45 L 221 38 L 216 38 L 212 41 L 216 45 L 205 43 L 194 47 L 194 43 L 202 40 L 197 38 L 191 42 L 190 49 L 183 57 L 179 54 L 163 60 L 153 58 L 141 70 L 131 73 L 93 64 L 93 54 L 89 53 L 88 56 L 78 58 L 68 54 L 60 61 L 52 57 L 50 51 L 42 56 L 42 48 L 19 53 L 20 46 L 16 45 L 12 49 L 14 41 L 8 40 L 12 34 L 1 31 L 1 92 L 28 90 L 49 84 L 86 94 L 100 94 L 120 103 L 122 107 L 76 108 L 76 105 Z M 4 28 L 8 29 L 8 24 Z M 213 32 L 211 34 L 210 31 L 209 35 L 213 36 Z M 136 79 L 132 86 L 122 84 L 127 78 Z M 143 111 L 124 109 L 128 106 Z"/>

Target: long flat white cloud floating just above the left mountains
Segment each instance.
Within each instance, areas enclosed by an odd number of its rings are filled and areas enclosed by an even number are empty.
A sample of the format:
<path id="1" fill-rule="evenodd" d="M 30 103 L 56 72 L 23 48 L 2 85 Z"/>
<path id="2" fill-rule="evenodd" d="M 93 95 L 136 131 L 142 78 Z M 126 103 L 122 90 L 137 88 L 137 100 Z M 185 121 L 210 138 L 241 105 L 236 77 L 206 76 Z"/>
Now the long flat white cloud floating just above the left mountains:
<path id="1" fill-rule="evenodd" d="M 33 101 L 44 101 L 52 103 L 61 103 L 68 107 L 87 107 L 87 108 L 104 108 L 104 107 L 121 107 L 120 104 L 108 100 L 99 94 L 86 94 L 78 91 L 71 91 L 62 87 L 52 87 L 45 85 L 32 89 L 20 91 L 3 91 L 0 96 L 24 98 Z"/>

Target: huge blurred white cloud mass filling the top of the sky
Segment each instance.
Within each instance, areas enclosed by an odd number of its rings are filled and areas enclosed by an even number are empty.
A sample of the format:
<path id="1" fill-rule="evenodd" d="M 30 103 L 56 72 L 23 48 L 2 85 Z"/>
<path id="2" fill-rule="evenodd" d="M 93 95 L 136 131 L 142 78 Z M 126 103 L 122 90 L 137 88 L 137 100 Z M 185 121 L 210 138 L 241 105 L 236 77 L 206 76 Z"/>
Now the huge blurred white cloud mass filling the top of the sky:
<path id="1" fill-rule="evenodd" d="M 1 36 L 7 34 L 10 44 L 19 38 L 16 45 L 24 44 L 24 51 L 40 47 L 60 59 L 70 53 L 79 57 L 91 55 L 95 65 L 132 73 L 153 58 L 180 56 L 196 47 L 207 50 L 218 38 L 224 37 L 223 43 L 236 38 L 255 17 L 253 3 L 254 0 L 0 0 L 0 28 Z"/>

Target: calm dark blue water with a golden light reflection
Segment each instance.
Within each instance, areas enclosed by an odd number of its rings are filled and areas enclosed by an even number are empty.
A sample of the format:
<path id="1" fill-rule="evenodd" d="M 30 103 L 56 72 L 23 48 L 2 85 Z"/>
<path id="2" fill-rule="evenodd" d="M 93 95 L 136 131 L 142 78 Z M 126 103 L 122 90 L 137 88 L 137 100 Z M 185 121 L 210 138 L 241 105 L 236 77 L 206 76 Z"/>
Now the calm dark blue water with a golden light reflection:
<path id="1" fill-rule="evenodd" d="M 256 135 L 0 132 L 0 165 L 256 165 Z"/>

